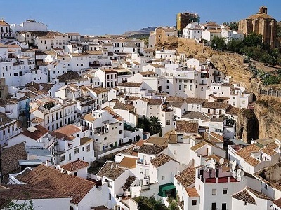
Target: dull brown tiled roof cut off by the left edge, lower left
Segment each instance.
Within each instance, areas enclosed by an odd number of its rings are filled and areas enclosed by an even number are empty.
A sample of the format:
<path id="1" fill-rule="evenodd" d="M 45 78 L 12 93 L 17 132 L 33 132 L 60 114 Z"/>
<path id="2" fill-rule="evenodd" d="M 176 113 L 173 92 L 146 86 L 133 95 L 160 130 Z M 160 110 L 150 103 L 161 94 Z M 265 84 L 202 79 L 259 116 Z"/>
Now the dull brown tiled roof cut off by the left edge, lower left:
<path id="1" fill-rule="evenodd" d="M 2 175 L 18 171 L 18 160 L 27 160 L 27 153 L 25 151 L 25 144 L 15 144 L 8 148 L 2 148 L 1 151 L 1 169 Z"/>

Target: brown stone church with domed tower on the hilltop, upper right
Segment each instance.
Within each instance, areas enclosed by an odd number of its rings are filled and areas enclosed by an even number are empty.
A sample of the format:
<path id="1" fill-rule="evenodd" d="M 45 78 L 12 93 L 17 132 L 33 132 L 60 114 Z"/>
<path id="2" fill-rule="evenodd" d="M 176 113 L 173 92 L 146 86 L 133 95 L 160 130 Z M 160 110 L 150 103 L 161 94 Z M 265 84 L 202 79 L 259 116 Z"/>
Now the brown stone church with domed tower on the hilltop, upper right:
<path id="1" fill-rule="evenodd" d="M 240 20 L 238 29 L 246 36 L 253 32 L 263 36 L 263 43 L 270 45 L 270 48 L 276 48 L 276 20 L 268 15 L 268 8 L 261 6 L 259 13 L 249 16 L 244 20 Z"/>

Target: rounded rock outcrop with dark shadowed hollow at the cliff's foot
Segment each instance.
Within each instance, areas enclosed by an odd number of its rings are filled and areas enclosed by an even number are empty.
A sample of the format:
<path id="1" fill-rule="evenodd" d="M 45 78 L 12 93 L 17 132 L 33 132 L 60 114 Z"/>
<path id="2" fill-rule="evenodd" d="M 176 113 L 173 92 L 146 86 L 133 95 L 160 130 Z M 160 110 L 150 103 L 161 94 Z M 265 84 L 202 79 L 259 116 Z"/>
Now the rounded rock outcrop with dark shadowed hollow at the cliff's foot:
<path id="1" fill-rule="evenodd" d="M 259 121 L 254 111 L 241 109 L 236 123 L 236 137 L 243 139 L 247 144 L 251 140 L 259 139 Z"/>

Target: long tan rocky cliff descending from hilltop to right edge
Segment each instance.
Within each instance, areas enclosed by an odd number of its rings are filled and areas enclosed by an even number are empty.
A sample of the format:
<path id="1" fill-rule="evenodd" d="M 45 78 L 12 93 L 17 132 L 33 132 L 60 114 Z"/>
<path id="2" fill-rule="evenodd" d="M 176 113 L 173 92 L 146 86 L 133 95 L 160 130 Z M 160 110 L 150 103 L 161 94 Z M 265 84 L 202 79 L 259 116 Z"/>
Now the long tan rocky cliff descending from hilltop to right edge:
<path id="1" fill-rule="evenodd" d="M 174 40 L 173 40 L 174 42 Z M 169 45 L 165 43 L 165 45 Z M 214 66 L 223 73 L 231 76 L 233 83 L 254 92 L 254 112 L 240 111 L 237 122 L 237 137 L 247 141 L 258 138 L 281 139 L 281 97 L 264 97 L 259 94 L 261 83 L 252 77 L 248 64 L 244 64 L 242 55 L 204 48 L 202 43 L 194 40 L 178 38 L 178 52 L 185 52 L 186 57 L 210 59 Z M 258 69 L 266 69 L 259 62 L 252 63 Z"/>

